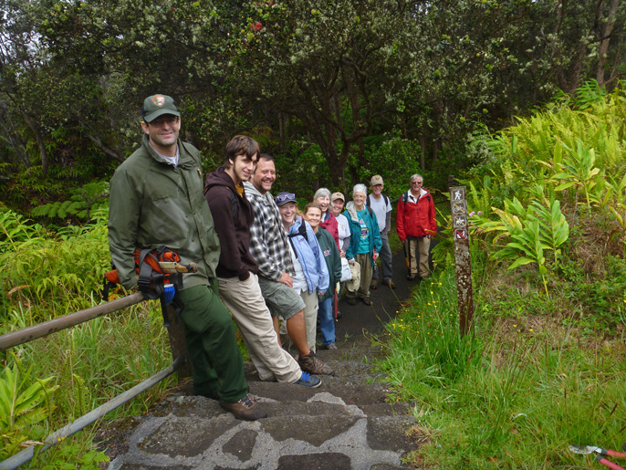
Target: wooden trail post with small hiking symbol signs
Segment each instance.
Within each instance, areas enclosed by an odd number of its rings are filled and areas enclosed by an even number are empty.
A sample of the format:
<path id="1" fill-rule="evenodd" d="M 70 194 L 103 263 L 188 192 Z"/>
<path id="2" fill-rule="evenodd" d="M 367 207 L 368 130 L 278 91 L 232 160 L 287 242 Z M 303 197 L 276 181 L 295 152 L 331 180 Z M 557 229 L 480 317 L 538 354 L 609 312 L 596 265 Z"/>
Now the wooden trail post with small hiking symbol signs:
<path id="1" fill-rule="evenodd" d="M 465 195 L 465 186 L 450 188 L 454 266 L 456 268 L 456 296 L 459 303 L 459 326 L 462 336 L 469 330 L 474 317 L 472 262 L 470 259 L 467 200 Z"/>

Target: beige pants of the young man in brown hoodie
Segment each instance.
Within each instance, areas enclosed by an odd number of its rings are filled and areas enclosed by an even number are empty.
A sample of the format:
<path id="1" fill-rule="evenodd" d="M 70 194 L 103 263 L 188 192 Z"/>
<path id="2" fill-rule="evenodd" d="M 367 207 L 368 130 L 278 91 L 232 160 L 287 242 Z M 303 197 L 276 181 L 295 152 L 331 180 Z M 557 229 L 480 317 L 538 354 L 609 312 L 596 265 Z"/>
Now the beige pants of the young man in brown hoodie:
<path id="1" fill-rule="evenodd" d="M 250 274 L 245 281 L 238 277 L 219 277 L 220 297 L 233 314 L 244 338 L 250 359 L 262 381 L 293 383 L 302 371 L 296 360 L 278 346 L 269 309 L 261 295 L 258 277 Z"/>

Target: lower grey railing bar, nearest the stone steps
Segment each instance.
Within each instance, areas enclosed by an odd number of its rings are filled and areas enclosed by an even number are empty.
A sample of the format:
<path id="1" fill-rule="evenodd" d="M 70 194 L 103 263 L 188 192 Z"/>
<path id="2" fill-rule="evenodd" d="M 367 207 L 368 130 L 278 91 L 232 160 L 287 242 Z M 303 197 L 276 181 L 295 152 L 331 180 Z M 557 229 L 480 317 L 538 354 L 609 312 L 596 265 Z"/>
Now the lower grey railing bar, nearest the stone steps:
<path id="1" fill-rule="evenodd" d="M 172 362 L 171 366 L 166 367 L 162 371 L 152 375 L 150 379 L 146 379 L 145 381 L 142 381 L 141 383 L 132 387 L 130 390 L 120 393 L 120 395 L 116 396 L 109 402 L 106 402 L 103 405 L 100 405 L 95 410 L 92 410 L 89 413 L 82 415 L 80 418 L 78 418 L 78 420 L 69 423 L 67 426 L 62 427 L 54 433 L 51 433 L 47 436 L 46 439 L 44 439 L 45 444 L 39 452 L 44 452 L 52 445 L 56 445 L 70 435 L 78 433 L 78 431 L 87 427 L 89 424 L 98 421 L 105 414 L 115 410 L 116 408 L 119 408 L 122 404 L 124 404 L 125 402 L 129 402 L 141 392 L 145 392 L 151 386 L 172 375 L 174 371 L 176 371 L 179 367 L 181 367 L 181 365 L 183 365 L 183 361 L 183 356 L 178 356 Z M 35 445 L 30 445 L 26 447 L 26 449 L 23 449 L 17 454 L 7 458 L 4 462 L 0 462 L 0 469 L 15 470 L 18 466 L 26 464 L 26 462 L 30 461 L 33 456 L 35 456 L 35 447 Z"/>

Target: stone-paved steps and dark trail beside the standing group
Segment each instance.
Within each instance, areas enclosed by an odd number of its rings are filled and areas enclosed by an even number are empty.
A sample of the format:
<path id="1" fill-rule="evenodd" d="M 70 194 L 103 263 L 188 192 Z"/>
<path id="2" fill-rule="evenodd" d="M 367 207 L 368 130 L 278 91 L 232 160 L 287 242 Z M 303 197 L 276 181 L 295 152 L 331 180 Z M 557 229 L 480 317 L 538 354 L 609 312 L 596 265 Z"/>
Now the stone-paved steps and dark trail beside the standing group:
<path id="1" fill-rule="evenodd" d="M 217 402 L 170 396 L 148 416 L 107 426 L 110 469 L 368 469 L 404 468 L 401 456 L 415 448 L 406 433 L 415 424 L 406 403 L 385 402 L 388 385 L 373 371 L 381 348 L 368 337 L 395 317 L 415 282 L 405 279 L 402 250 L 393 258 L 398 288 L 371 291 L 372 307 L 339 303 L 338 350 L 318 356 L 335 369 L 314 390 L 258 380 L 246 365 L 250 392 L 269 416 L 235 420 Z"/>

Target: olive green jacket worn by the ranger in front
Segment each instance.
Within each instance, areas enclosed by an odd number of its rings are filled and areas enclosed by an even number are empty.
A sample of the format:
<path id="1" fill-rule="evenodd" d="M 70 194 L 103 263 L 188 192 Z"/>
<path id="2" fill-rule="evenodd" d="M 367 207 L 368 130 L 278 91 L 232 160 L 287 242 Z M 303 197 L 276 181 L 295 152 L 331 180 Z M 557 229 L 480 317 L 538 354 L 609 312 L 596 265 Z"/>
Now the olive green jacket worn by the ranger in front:
<path id="1" fill-rule="evenodd" d="M 220 245 L 203 195 L 200 152 L 180 140 L 178 148 L 174 167 L 144 135 L 141 148 L 110 181 L 110 254 L 126 288 L 137 284 L 135 248 L 165 245 L 181 256 L 183 264 L 196 263 L 197 273 L 183 274 L 183 289 L 207 285 L 215 277 Z"/>

